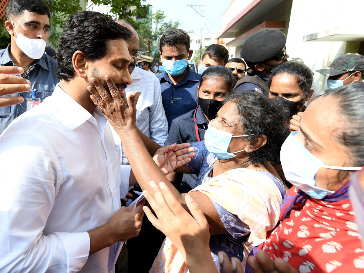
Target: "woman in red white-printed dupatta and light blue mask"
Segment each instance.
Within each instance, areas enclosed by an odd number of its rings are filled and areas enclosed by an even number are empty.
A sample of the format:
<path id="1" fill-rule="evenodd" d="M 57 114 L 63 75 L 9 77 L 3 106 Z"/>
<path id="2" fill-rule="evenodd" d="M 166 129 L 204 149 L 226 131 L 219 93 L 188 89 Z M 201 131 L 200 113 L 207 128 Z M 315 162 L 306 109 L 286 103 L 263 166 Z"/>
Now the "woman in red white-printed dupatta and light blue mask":
<path id="1" fill-rule="evenodd" d="M 249 256 L 264 250 L 299 273 L 364 272 L 348 196 L 348 178 L 364 164 L 363 101 L 364 83 L 358 83 L 330 90 L 307 107 L 300 131 L 281 149 L 286 179 L 295 187 L 285 195 L 277 227 Z M 246 272 L 252 272 L 248 263 Z"/>

